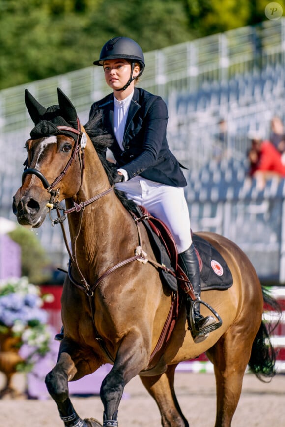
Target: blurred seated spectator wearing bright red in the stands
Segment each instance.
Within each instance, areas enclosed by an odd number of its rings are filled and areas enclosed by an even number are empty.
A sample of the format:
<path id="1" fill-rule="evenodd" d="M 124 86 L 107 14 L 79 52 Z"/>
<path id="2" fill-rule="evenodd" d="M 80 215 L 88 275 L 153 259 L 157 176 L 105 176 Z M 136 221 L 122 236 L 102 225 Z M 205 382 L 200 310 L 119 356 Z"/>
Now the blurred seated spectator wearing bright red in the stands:
<path id="1" fill-rule="evenodd" d="M 266 179 L 273 176 L 285 177 L 285 165 L 281 153 L 267 140 L 262 140 L 260 134 L 249 134 L 251 148 L 248 151 L 250 163 L 249 175 L 256 178 L 260 188 L 265 186 Z"/>

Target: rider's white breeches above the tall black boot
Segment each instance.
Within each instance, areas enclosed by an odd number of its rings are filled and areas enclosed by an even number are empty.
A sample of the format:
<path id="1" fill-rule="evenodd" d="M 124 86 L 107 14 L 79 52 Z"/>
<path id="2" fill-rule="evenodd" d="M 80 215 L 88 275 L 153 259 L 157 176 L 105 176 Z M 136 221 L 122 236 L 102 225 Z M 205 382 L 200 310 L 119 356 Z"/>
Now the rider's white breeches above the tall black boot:
<path id="1" fill-rule="evenodd" d="M 137 205 L 145 206 L 151 215 L 161 219 L 169 228 L 178 253 L 184 252 L 192 243 L 190 218 L 182 187 L 156 183 L 142 177 L 117 183 L 116 188 L 124 191 Z"/>

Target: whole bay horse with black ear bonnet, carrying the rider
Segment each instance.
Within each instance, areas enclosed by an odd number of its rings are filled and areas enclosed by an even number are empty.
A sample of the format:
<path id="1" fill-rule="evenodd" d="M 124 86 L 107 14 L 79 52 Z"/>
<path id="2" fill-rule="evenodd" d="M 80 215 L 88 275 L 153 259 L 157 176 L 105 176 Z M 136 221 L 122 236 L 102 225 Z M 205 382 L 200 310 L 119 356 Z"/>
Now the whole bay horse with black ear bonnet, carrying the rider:
<path id="1" fill-rule="evenodd" d="M 146 229 L 135 223 L 126 198 L 115 189 L 105 159 L 111 140 L 99 126 L 100 117 L 81 126 L 71 101 L 57 92 L 58 105 L 46 109 L 26 91 L 35 127 L 26 142 L 28 158 L 13 211 L 20 224 L 34 228 L 53 209 L 57 222 L 68 218 L 71 262 L 61 299 L 64 338 L 45 380 L 61 420 L 72 427 L 118 426 L 124 386 L 139 375 L 158 405 L 162 426 L 189 426 L 175 395 L 175 368 L 205 352 L 216 377 L 215 426 L 229 427 L 247 365 L 259 378 L 275 374 L 270 331 L 262 321 L 264 302 L 274 300 L 263 292 L 254 267 L 236 244 L 215 233 L 198 233 L 221 253 L 232 274 L 227 290 L 202 292 L 202 300 L 223 323 L 195 343 L 182 304 L 167 345 L 151 362 L 174 293 L 162 283 L 157 266 L 143 256 L 155 258 Z M 201 310 L 207 311 L 205 306 Z M 100 389 L 101 424 L 79 417 L 69 399 L 68 381 L 105 363 L 113 367 Z"/>

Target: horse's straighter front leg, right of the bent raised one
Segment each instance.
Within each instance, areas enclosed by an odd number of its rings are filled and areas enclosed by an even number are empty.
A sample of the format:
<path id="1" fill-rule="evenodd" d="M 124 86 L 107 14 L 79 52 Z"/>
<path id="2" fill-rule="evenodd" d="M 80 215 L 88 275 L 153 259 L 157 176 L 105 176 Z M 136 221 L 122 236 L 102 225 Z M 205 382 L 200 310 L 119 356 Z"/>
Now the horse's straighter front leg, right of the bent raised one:
<path id="1" fill-rule="evenodd" d="M 124 387 L 146 367 L 147 360 L 141 334 L 129 333 L 119 347 L 113 368 L 101 385 L 100 397 L 104 405 L 103 427 L 118 427 L 118 407 Z"/>

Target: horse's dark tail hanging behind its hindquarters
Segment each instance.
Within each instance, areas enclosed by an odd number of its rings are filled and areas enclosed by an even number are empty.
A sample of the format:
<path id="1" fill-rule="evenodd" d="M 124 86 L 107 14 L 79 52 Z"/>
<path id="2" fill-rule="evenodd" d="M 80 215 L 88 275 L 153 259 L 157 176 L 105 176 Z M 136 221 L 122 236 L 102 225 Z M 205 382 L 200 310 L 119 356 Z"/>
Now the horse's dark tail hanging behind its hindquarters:
<path id="1" fill-rule="evenodd" d="M 270 335 L 278 325 L 282 315 L 281 306 L 270 295 L 270 292 L 262 286 L 263 301 L 266 306 L 271 307 L 277 312 L 278 320 L 274 323 L 261 321 L 259 330 L 253 342 L 251 357 L 249 360 L 249 368 L 256 377 L 263 382 L 265 378 L 270 378 L 269 381 L 276 374 L 275 362 L 276 351 L 272 346 Z"/>

